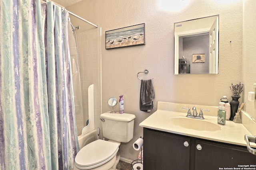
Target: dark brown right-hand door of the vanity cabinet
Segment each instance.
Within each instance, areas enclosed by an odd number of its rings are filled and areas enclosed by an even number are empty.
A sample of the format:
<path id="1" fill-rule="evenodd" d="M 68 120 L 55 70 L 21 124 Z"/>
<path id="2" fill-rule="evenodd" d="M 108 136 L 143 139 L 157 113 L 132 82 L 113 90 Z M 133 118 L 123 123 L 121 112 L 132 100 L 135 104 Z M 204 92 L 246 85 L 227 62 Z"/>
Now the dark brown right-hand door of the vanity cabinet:
<path id="1" fill-rule="evenodd" d="M 196 140 L 201 150 L 195 151 L 195 170 L 219 170 L 240 168 L 238 165 L 256 165 L 256 156 L 246 147 Z M 200 147 L 199 147 L 200 148 Z"/>

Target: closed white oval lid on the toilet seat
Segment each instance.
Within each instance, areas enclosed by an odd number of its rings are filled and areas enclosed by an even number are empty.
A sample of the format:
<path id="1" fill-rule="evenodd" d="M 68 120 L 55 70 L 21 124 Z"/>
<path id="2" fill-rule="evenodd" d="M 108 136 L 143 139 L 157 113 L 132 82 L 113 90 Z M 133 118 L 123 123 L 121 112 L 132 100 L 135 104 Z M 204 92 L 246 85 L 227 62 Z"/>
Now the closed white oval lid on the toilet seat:
<path id="1" fill-rule="evenodd" d="M 118 144 L 98 139 L 83 147 L 77 154 L 75 162 L 78 166 L 86 167 L 100 164 L 118 151 Z"/>

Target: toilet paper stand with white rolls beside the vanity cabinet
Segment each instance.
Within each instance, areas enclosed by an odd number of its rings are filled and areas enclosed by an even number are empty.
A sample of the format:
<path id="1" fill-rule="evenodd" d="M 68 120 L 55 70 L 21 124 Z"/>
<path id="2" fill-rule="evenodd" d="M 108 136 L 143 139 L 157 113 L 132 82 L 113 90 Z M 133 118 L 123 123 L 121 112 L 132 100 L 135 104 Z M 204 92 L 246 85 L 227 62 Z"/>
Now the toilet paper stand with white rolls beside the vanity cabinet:
<path id="1" fill-rule="evenodd" d="M 141 140 L 142 139 L 142 140 Z M 142 146 L 143 146 L 143 138 L 140 137 L 139 139 L 137 139 L 134 143 L 133 143 L 133 148 L 134 150 L 139 150 L 140 149 L 140 158 L 141 159 L 136 159 L 134 161 L 132 161 L 131 166 L 132 166 L 132 170 L 143 170 L 143 164 L 142 164 Z M 136 166 L 136 169 L 134 169 L 134 166 Z"/>

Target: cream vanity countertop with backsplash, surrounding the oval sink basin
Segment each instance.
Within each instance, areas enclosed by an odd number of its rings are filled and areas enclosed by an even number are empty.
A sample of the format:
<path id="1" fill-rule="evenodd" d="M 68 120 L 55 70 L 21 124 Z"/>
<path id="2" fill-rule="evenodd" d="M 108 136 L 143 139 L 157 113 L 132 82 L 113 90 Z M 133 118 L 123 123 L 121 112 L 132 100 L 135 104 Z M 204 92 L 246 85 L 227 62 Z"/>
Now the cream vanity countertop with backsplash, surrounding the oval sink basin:
<path id="1" fill-rule="evenodd" d="M 180 127 L 179 125 L 173 125 L 172 123 L 169 122 L 170 118 L 184 117 L 184 119 L 193 119 L 193 118 L 186 117 L 187 110 L 181 109 L 182 107 L 191 107 L 191 106 L 186 106 L 186 104 L 158 102 L 158 109 L 154 113 L 152 113 L 152 115 L 150 115 L 147 119 L 142 121 L 140 123 L 140 126 L 146 127 L 149 129 L 169 132 L 169 133 L 175 133 L 175 134 L 186 135 L 190 137 L 196 137 L 200 139 L 207 139 L 210 141 L 218 141 L 222 143 L 229 143 L 229 144 L 241 145 L 241 146 L 246 146 L 246 142 L 244 141 L 244 135 L 252 135 L 246 129 L 246 127 L 244 127 L 242 123 L 234 123 L 233 121 L 227 120 L 226 125 L 218 124 L 217 116 L 212 116 L 214 114 L 217 115 L 218 107 L 211 108 L 211 106 L 196 107 L 198 113 L 200 111 L 200 107 L 202 107 L 202 109 L 210 109 L 210 112 L 208 112 L 208 115 L 207 115 L 207 112 L 204 111 L 205 119 L 200 121 L 209 121 L 211 123 L 220 125 L 221 130 L 204 131 L 204 129 L 201 129 L 200 131 L 198 131 L 194 129 L 186 129 L 186 128 Z M 252 143 L 250 143 L 250 145 L 252 147 L 256 146 Z"/>

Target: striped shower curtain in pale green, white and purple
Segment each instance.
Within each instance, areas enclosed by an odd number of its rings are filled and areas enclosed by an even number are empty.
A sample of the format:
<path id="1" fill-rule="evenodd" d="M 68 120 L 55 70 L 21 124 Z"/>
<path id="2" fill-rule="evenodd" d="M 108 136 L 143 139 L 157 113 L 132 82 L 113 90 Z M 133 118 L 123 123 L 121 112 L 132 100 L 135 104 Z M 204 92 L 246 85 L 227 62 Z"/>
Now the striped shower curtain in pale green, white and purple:
<path id="1" fill-rule="evenodd" d="M 0 170 L 69 170 L 79 150 L 68 12 L 0 0 Z"/>

